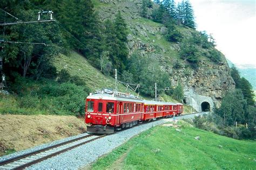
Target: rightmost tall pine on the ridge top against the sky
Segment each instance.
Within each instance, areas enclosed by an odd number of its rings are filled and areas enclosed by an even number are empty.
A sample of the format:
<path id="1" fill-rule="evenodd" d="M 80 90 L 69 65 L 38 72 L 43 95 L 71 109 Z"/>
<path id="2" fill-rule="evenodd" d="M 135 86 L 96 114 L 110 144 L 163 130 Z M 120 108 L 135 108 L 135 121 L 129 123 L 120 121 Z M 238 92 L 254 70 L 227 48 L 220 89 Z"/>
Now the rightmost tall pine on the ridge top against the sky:
<path id="1" fill-rule="evenodd" d="M 184 2 L 184 25 L 196 29 L 196 23 L 194 22 L 194 11 L 190 1 Z"/>

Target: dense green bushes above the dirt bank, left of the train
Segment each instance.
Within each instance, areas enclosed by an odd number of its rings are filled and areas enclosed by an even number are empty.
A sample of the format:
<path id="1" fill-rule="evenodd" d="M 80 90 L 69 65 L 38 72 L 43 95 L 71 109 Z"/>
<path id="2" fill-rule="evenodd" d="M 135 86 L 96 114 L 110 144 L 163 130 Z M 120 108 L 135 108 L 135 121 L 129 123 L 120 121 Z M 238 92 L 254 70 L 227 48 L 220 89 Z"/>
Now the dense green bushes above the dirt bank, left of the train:
<path id="1" fill-rule="evenodd" d="M 65 71 L 62 75 L 67 75 Z M 69 75 L 69 74 L 68 74 Z M 66 77 L 61 76 L 61 81 Z M 72 83 L 71 83 L 72 82 Z M 33 81 L 18 77 L 13 84 L 19 91 L 17 105 L 12 110 L 2 109 L 11 114 L 55 114 L 55 115 L 84 115 L 85 98 L 91 92 L 82 79 L 70 76 L 69 82 L 58 83 L 49 79 Z"/>

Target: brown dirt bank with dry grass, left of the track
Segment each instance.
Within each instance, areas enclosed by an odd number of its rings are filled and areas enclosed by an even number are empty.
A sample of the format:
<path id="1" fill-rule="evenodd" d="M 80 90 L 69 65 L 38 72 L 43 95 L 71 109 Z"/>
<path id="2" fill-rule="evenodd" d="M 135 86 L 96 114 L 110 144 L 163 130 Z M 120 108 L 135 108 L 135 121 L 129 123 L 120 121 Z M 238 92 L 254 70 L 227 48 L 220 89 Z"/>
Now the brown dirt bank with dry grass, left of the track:
<path id="1" fill-rule="evenodd" d="M 85 132 L 75 116 L 0 115 L 0 156 Z"/>

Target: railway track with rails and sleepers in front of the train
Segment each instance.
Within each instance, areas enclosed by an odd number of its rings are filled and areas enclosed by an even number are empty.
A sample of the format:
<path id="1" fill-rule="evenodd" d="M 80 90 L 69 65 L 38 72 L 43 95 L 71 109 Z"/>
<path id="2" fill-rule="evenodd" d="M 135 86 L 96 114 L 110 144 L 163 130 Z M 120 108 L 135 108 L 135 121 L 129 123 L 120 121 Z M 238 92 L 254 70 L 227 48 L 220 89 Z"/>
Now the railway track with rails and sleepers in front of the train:
<path id="1" fill-rule="evenodd" d="M 38 162 L 41 162 L 45 159 L 51 158 L 57 154 L 66 152 L 68 150 L 71 150 L 72 148 L 84 145 L 104 136 L 106 135 L 103 134 L 101 136 L 96 136 L 93 134 L 88 134 L 83 137 L 64 141 L 63 143 L 22 154 L 14 158 L 0 161 L 0 169 L 24 169 L 25 167 L 37 164 Z"/>

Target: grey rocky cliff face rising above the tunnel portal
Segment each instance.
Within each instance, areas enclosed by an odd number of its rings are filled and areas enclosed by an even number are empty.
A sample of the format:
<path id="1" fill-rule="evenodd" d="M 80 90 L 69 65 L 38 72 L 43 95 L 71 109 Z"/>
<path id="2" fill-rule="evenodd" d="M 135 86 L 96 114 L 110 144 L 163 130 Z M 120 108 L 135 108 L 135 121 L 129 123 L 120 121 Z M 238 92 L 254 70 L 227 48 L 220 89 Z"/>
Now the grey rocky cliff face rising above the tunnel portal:
<path id="1" fill-rule="evenodd" d="M 122 12 L 131 32 L 127 37 L 130 54 L 138 51 L 140 55 L 151 55 L 157 58 L 163 72 L 170 74 L 172 86 L 177 86 L 178 82 L 183 84 L 186 104 L 191 104 L 198 111 L 201 111 L 203 102 L 207 102 L 210 108 L 214 105 L 219 107 L 226 91 L 234 89 L 234 81 L 230 76 L 225 58 L 216 65 L 203 57 L 198 69 L 186 67 L 186 61 L 178 56 L 180 45 L 165 40 L 166 27 L 140 17 L 142 1 L 100 0 L 100 2 L 103 5 L 100 5 L 97 11 L 102 20 L 114 18 L 117 11 Z M 154 4 L 153 8 L 156 6 Z M 152 8 L 148 9 L 148 13 L 150 14 L 152 10 Z M 187 28 L 181 29 L 184 37 L 191 36 L 193 31 Z M 181 63 L 179 69 L 173 67 L 174 61 Z"/>

